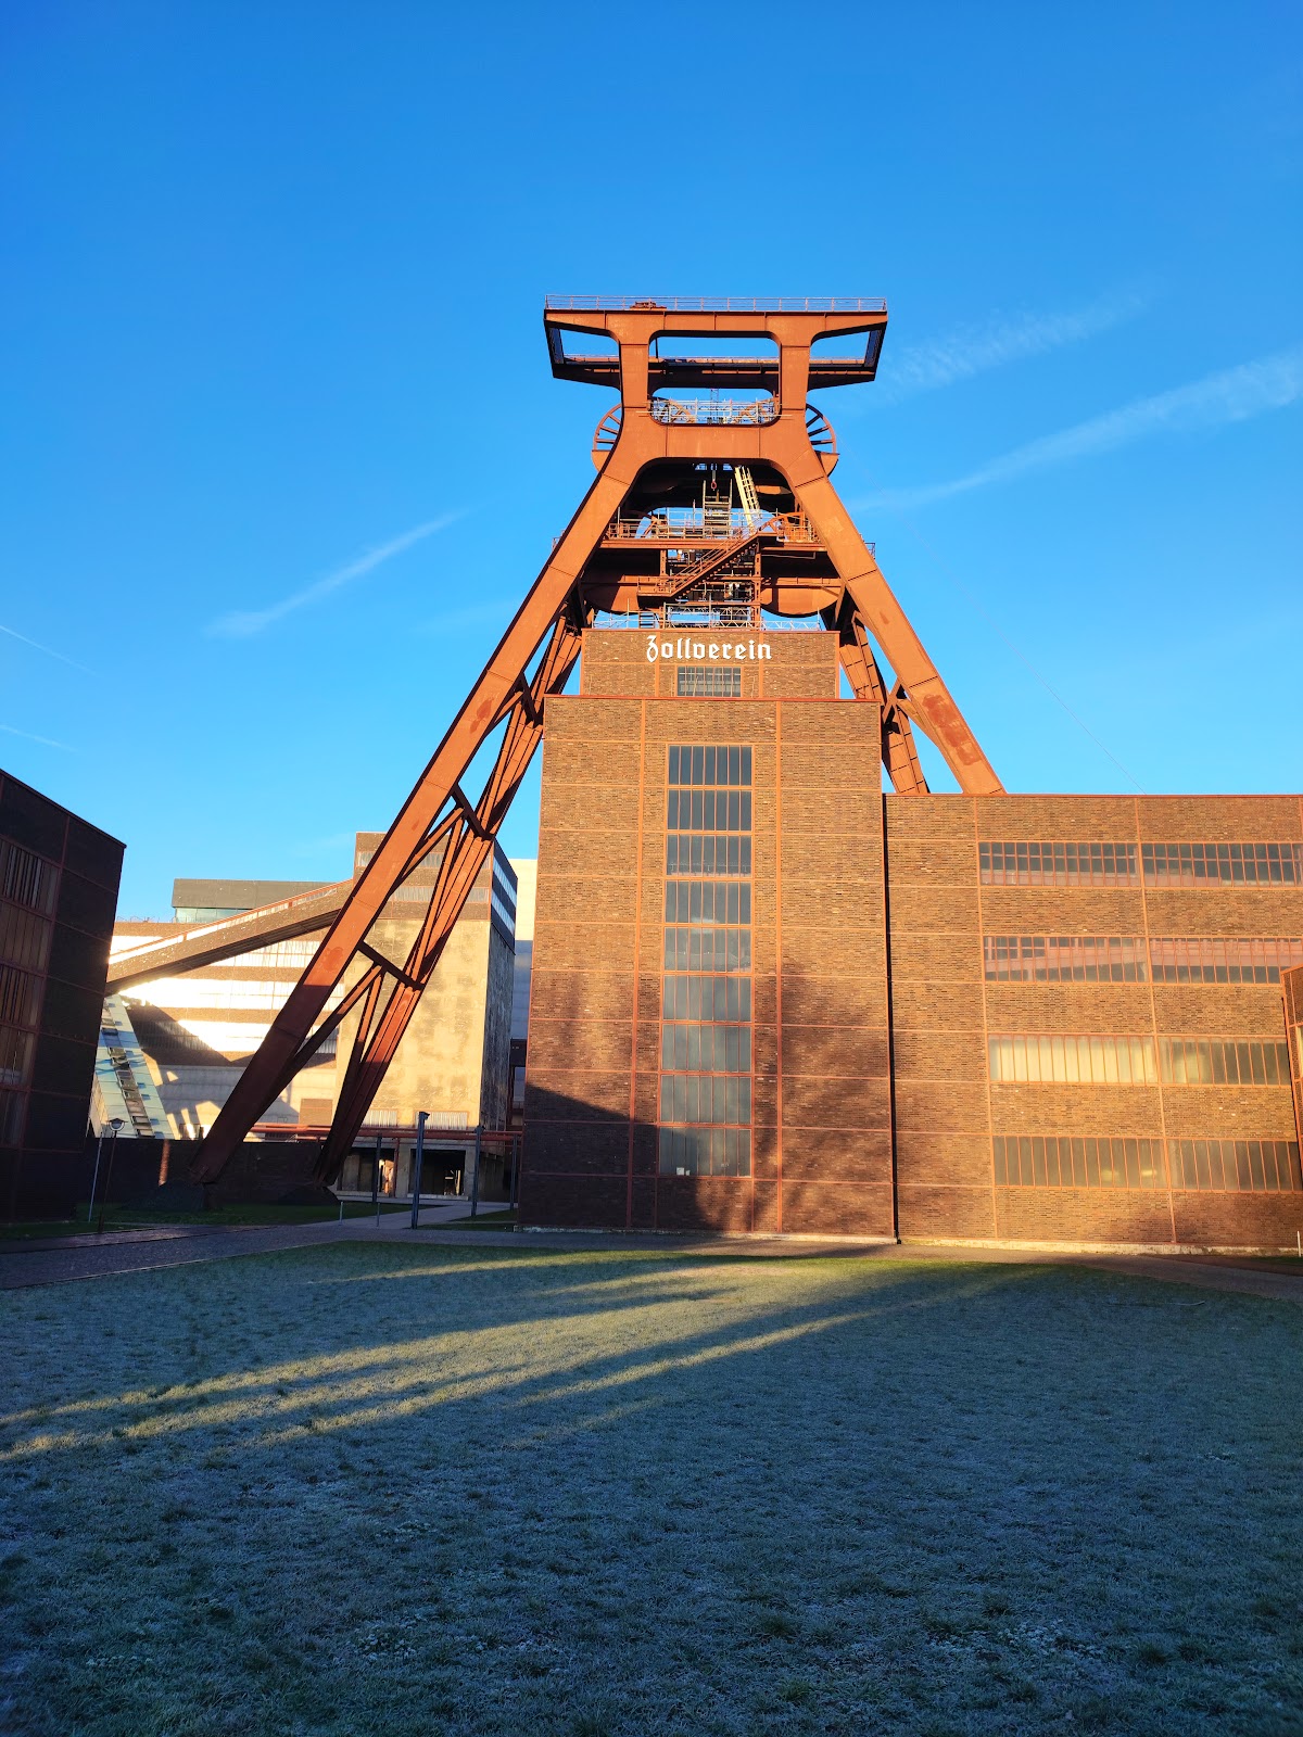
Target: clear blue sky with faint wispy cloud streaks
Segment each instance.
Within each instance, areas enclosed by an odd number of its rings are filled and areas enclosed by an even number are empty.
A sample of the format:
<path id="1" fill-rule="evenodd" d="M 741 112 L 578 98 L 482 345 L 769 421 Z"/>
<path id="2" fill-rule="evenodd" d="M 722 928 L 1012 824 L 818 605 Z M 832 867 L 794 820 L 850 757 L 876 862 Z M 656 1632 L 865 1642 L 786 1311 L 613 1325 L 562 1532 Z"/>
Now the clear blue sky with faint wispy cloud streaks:
<path id="1" fill-rule="evenodd" d="M 127 915 L 346 874 L 591 481 L 544 294 L 858 294 L 836 481 L 1006 785 L 1296 790 L 1301 116 L 1272 0 L 10 9 L 0 763 Z"/>

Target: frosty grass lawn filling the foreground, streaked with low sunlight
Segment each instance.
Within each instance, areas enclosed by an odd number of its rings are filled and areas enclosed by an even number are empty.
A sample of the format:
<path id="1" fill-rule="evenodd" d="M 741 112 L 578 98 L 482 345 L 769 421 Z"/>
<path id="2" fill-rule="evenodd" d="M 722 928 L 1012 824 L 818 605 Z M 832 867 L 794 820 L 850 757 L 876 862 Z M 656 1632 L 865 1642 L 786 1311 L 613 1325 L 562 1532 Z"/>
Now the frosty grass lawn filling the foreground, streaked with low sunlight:
<path id="1" fill-rule="evenodd" d="M 0 1296 L 0 1730 L 1303 1732 L 1303 1310 L 337 1244 Z"/>

